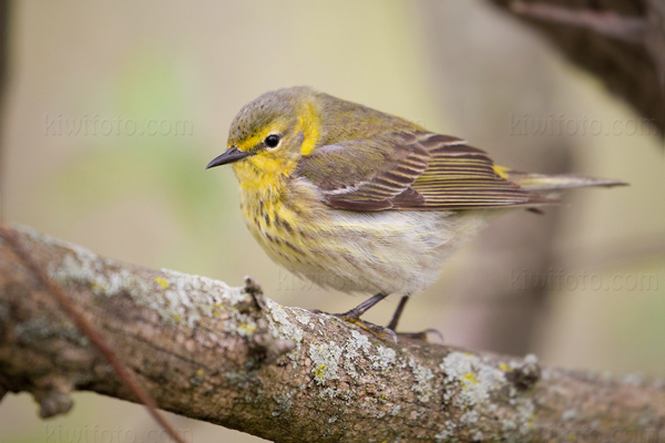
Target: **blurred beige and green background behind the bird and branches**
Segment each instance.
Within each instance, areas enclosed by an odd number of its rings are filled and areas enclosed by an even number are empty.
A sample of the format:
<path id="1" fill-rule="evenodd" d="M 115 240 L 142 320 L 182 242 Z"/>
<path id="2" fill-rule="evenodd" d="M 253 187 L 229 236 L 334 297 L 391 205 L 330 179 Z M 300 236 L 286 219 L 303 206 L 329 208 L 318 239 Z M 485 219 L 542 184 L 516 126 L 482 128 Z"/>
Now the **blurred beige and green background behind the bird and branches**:
<path id="1" fill-rule="evenodd" d="M 310 85 L 466 137 L 499 164 L 621 178 L 542 216 L 498 219 L 412 298 L 403 331 L 543 364 L 665 377 L 665 162 L 648 122 L 543 38 L 480 0 L 11 3 L 1 127 L 4 219 L 152 268 L 345 311 L 274 265 L 231 168 L 204 171 L 268 90 Z M 386 323 L 397 299 L 368 320 Z M 141 406 L 76 393 L 38 419 L 0 403 L 2 442 L 168 441 Z M 187 441 L 259 439 L 170 415 Z M 105 439 L 105 440 L 104 440 Z"/>

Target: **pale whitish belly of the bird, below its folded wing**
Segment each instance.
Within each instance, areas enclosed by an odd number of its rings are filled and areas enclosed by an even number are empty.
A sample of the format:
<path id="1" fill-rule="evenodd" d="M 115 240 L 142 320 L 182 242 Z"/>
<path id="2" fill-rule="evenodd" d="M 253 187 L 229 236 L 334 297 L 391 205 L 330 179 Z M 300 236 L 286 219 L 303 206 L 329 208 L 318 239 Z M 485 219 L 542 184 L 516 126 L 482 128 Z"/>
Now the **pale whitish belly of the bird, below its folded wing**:
<path id="1" fill-rule="evenodd" d="M 415 293 L 432 285 L 443 261 L 485 223 L 484 212 L 335 210 L 305 259 L 276 258 L 324 288 Z M 311 234 L 310 234 L 311 235 Z"/>

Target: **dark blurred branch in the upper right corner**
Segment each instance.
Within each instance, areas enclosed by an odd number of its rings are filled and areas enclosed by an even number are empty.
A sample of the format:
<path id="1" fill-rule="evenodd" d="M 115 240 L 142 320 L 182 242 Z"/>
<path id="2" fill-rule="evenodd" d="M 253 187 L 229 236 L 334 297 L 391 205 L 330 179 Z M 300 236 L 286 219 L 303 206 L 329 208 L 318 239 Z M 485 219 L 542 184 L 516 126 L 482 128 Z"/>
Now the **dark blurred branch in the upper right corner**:
<path id="1" fill-rule="evenodd" d="M 574 63 L 595 74 L 665 132 L 664 0 L 491 0 L 545 33 Z M 515 3 L 561 7 L 535 10 Z M 579 19 L 561 13 L 577 13 Z M 529 12 L 528 12 L 529 11 Z M 584 16 L 584 17 L 582 17 Z"/>

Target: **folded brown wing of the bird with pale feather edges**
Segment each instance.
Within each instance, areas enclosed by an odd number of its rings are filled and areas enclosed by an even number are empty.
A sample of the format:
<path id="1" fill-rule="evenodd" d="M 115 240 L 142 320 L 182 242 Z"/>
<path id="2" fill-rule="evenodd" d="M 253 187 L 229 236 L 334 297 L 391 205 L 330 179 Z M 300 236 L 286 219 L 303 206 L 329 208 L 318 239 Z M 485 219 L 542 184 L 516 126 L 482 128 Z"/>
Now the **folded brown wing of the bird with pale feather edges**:
<path id="1" fill-rule="evenodd" d="M 297 174 L 324 203 L 354 210 L 471 209 L 539 206 L 541 197 L 501 176 L 491 158 L 464 141 L 417 132 L 321 146 Z"/>

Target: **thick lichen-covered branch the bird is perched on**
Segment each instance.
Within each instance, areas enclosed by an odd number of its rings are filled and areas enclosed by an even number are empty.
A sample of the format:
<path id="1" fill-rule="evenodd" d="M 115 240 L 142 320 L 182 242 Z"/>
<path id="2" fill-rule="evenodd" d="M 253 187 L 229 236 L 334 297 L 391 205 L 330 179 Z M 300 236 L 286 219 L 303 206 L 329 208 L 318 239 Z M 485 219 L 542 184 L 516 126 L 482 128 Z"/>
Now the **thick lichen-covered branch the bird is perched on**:
<path id="1" fill-rule="evenodd" d="M 665 439 L 662 381 L 396 344 L 279 306 L 250 282 L 232 288 L 17 235 L 167 411 L 276 442 Z M 51 415 L 73 390 L 134 401 L 0 241 L 0 396 L 29 391 Z"/>

